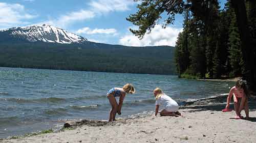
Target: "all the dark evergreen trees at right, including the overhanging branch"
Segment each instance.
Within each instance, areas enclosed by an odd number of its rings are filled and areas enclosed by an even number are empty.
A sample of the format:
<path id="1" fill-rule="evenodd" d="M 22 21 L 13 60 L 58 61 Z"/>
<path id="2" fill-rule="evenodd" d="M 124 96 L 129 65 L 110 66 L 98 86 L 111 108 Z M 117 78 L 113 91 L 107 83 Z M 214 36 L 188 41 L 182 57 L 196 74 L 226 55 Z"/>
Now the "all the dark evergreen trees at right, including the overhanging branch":
<path id="1" fill-rule="evenodd" d="M 228 0 L 220 9 L 217 0 L 141 0 L 138 12 L 127 20 L 139 38 L 151 32 L 163 14 L 163 27 L 176 14 L 184 17 L 176 42 L 175 61 L 180 77 L 223 78 L 243 76 L 256 90 L 256 1 Z"/>

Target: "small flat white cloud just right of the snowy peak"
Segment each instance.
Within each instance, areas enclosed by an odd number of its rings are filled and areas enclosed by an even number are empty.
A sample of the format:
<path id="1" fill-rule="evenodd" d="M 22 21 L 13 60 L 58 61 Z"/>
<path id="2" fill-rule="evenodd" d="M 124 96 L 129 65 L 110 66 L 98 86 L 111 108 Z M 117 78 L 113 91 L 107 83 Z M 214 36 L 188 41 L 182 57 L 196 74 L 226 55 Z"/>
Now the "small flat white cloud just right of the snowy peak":
<path id="1" fill-rule="evenodd" d="M 77 32 L 77 34 L 116 34 L 117 31 L 114 28 L 110 28 L 110 29 L 98 29 L 95 28 L 94 30 L 91 30 L 91 28 L 89 27 L 84 27 L 79 29 Z"/>

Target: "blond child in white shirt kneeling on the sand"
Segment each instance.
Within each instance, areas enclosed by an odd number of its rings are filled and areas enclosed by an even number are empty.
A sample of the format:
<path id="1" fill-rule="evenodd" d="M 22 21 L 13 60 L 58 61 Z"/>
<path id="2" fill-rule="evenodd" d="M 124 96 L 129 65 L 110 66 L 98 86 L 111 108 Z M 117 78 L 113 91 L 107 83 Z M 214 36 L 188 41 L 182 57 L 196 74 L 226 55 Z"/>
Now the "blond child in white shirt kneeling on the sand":
<path id="1" fill-rule="evenodd" d="M 163 110 L 160 111 L 160 116 L 182 116 L 178 111 L 179 105 L 172 98 L 163 93 L 163 91 L 159 88 L 154 90 L 154 95 L 156 97 L 156 113 L 157 116 L 159 106 L 163 106 Z M 183 116 L 182 116 L 183 117 Z"/>

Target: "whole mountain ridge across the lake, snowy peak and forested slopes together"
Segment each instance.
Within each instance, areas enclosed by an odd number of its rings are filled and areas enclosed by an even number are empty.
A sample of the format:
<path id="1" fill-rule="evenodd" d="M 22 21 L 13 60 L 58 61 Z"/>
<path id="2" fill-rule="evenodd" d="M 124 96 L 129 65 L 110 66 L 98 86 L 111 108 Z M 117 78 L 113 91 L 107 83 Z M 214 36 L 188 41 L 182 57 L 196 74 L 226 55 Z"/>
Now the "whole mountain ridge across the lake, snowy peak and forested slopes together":
<path id="1" fill-rule="evenodd" d="M 0 67 L 176 74 L 175 47 L 90 42 L 52 25 L 0 31 Z"/>

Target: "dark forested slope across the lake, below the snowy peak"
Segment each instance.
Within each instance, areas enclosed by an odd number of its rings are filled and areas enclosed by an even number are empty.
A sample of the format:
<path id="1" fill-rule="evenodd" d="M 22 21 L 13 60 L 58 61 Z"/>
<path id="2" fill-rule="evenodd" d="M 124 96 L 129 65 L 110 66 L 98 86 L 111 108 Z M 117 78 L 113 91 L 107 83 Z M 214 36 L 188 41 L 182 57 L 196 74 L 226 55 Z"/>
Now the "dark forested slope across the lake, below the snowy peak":
<path id="1" fill-rule="evenodd" d="M 175 48 L 127 47 L 84 42 L 58 44 L 8 41 L 0 43 L 0 67 L 146 74 L 176 74 Z"/>

